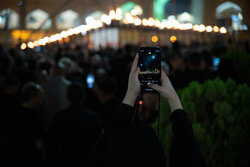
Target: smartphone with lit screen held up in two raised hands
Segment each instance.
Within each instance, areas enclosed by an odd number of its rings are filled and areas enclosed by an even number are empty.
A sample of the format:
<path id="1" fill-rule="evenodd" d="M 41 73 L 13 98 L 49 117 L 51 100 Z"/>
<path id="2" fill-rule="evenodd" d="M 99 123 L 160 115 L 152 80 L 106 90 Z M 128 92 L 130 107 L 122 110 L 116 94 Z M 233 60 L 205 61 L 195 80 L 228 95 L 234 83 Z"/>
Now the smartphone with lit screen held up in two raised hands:
<path id="1" fill-rule="evenodd" d="M 155 92 L 148 83 L 161 84 L 161 49 L 159 47 L 141 47 L 139 49 L 139 80 L 144 92 Z"/>

